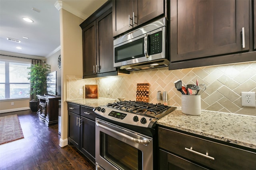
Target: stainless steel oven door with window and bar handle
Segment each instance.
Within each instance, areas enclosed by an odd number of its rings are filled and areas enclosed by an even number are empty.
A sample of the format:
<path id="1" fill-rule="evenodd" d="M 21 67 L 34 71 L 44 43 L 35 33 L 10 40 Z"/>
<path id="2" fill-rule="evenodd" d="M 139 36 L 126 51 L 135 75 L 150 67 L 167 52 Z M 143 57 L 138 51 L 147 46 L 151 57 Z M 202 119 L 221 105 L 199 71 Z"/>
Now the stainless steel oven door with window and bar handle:
<path id="1" fill-rule="evenodd" d="M 153 140 L 96 118 L 96 167 L 153 170 Z"/>

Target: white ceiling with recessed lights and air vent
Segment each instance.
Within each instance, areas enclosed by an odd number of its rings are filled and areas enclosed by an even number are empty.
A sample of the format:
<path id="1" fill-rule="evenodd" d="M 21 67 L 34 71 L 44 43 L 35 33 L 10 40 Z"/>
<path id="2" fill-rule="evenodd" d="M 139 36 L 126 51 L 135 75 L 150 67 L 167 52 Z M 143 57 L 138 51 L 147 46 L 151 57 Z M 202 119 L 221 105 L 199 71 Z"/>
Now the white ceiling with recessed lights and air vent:
<path id="1" fill-rule="evenodd" d="M 62 8 L 85 20 L 106 1 L 62 0 Z M 60 15 L 54 5 L 56 2 L 57 0 L 0 0 L 0 53 L 47 58 L 58 51 Z M 28 17 L 34 22 L 26 22 L 22 17 Z M 7 37 L 21 42 L 8 41 Z"/>

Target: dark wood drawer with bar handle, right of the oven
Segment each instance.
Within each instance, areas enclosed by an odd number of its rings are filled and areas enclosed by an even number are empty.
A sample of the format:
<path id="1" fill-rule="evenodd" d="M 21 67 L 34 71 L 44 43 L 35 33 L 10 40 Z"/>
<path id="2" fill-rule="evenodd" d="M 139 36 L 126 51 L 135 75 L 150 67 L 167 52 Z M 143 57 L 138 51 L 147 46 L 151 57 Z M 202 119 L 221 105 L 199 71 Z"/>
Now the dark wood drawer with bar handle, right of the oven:
<path id="1" fill-rule="evenodd" d="M 256 153 L 158 128 L 159 147 L 213 169 L 251 170 Z M 206 154 L 208 153 L 208 155 Z"/>

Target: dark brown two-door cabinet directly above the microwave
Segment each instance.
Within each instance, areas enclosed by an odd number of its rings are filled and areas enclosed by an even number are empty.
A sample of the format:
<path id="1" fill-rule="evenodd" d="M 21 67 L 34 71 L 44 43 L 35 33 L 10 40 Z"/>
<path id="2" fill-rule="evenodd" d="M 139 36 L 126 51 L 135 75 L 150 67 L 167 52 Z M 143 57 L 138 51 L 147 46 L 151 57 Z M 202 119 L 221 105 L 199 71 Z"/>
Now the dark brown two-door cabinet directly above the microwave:
<path id="1" fill-rule="evenodd" d="M 164 0 L 113 0 L 113 36 L 164 14 Z"/>

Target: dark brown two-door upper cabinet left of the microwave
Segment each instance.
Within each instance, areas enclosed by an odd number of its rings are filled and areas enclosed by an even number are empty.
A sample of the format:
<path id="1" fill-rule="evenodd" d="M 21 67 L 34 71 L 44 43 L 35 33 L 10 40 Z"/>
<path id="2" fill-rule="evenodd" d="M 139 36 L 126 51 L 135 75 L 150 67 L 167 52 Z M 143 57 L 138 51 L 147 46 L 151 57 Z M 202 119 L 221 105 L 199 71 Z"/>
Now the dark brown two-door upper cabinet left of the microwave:
<path id="1" fill-rule="evenodd" d="M 106 2 L 80 27 L 83 34 L 83 78 L 118 75 L 114 68 L 112 1 Z"/>

